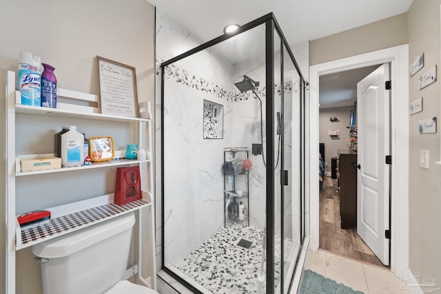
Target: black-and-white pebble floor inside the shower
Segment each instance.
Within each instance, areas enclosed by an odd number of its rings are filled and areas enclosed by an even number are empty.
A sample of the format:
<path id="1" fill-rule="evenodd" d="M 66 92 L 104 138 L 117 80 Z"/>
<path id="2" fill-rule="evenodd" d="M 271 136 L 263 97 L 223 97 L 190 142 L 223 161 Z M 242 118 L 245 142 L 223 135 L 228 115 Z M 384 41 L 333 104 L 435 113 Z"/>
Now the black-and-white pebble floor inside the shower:
<path id="1" fill-rule="evenodd" d="M 262 237 L 261 229 L 245 224 L 230 225 L 189 253 L 176 264 L 176 268 L 212 293 L 257 293 Z M 252 246 L 249 249 L 238 246 L 242 239 L 252 241 Z M 291 244 L 285 240 L 285 252 L 289 252 Z M 280 248 L 280 238 L 276 238 L 276 248 Z M 280 254 L 275 260 L 275 278 L 278 280 Z"/>

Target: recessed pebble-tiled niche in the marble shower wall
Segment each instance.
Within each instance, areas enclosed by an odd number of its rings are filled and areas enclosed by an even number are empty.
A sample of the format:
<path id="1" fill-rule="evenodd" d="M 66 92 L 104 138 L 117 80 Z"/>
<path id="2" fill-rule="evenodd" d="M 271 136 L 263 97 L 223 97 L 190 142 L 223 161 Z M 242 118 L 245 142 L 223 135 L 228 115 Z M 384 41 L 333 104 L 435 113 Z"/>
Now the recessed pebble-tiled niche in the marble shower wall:
<path id="1" fill-rule="evenodd" d="M 204 139 L 223 138 L 223 105 L 204 100 Z"/>

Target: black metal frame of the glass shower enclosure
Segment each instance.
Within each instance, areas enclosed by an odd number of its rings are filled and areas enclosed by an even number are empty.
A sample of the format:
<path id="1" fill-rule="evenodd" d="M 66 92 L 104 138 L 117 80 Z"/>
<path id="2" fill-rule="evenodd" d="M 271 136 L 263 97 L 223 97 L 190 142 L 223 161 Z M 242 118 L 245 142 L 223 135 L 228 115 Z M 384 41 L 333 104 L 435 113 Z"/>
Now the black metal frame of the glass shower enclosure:
<path id="1" fill-rule="evenodd" d="M 275 290 L 275 284 L 274 284 L 274 233 L 275 233 L 275 204 L 274 204 L 274 189 L 275 187 L 278 187 L 281 189 L 281 198 L 282 198 L 282 209 L 280 211 L 280 216 L 282 219 L 282 225 L 281 225 L 281 233 L 282 233 L 282 240 L 283 240 L 283 219 L 284 219 L 284 213 L 283 213 L 283 183 L 276 183 L 274 181 L 274 36 L 277 33 L 278 37 L 280 38 L 280 72 L 282 76 L 282 91 L 280 93 L 281 95 L 281 103 L 283 105 L 283 58 L 284 54 L 283 52 L 287 52 L 289 57 L 291 58 L 291 61 L 294 63 L 294 67 L 296 68 L 296 71 L 298 72 L 300 76 L 300 187 L 298 187 L 300 191 L 300 249 L 298 256 L 296 258 L 296 265 L 298 265 L 300 252 L 302 251 L 302 245 L 305 240 L 305 92 L 306 92 L 306 85 L 307 82 L 305 81 L 305 78 L 302 76 L 302 73 L 300 72 L 300 67 L 298 66 L 296 59 L 294 58 L 294 54 L 291 52 L 291 49 L 289 48 L 289 44 L 287 43 L 285 36 L 283 35 L 283 32 L 280 30 L 280 26 L 278 25 L 276 18 L 274 17 L 274 14 L 271 12 L 269 14 L 266 14 L 263 17 L 260 17 L 254 21 L 251 21 L 245 25 L 240 26 L 238 30 L 234 33 L 229 34 L 223 34 L 221 36 L 218 36 L 216 39 L 213 39 L 212 41 L 208 41 L 207 43 L 204 43 L 202 45 L 197 46 L 196 48 L 189 50 L 183 54 L 180 54 L 168 61 L 165 61 L 161 63 L 161 269 L 174 277 L 174 279 L 178 280 L 181 284 L 185 285 L 190 290 L 194 291 L 194 293 L 202 293 L 197 288 L 195 288 L 194 285 L 190 284 L 186 280 L 184 280 L 182 277 L 174 273 L 171 269 L 168 269 L 167 266 L 165 266 L 165 193 L 164 193 L 164 82 L 165 82 L 165 70 L 164 68 L 167 65 L 171 65 L 172 63 L 175 63 L 176 61 L 180 61 L 181 59 L 185 59 L 188 56 L 191 56 L 193 54 L 196 54 L 197 52 L 201 52 L 202 50 L 205 50 L 207 48 L 212 47 L 213 45 L 216 45 L 217 43 L 223 42 L 229 38 L 232 38 L 233 36 L 237 36 L 238 34 L 241 34 L 243 32 L 246 32 L 247 30 L 251 30 L 252 28 L 257 27 L 258 25 L 265 24 L 265 91 L 266 91 L 266 113 L 265 118 L 267 121 L 266 125 L 266 138 L 267 138 L 267 167 L 266 167 L 266 229 L 267 229 L 267 260 L 266 260 L 266 276 L 265 276 L 265 285 L 266 285 L 266 293 L 274 293 Z M 286 49 L 286 50 L 285 50 Z M 282 109 L 283 113 L 283 109 Z M 283 146 L 284 142 L 284 136 L 283 136 L 283 123 L 281 123 L 281 142 Z M 293 138 L 294 139 L 294 138 Z M 283 151 L 283 147 L 282 147 Z M 281 152 L 281 162 L 283 162 L 283 152 Z M 283 164 L 281 165 L 281 172 L 280 176 L 282 176 L 283 171 Z M 283 242 L 281 242 L 281 257 L 280 257 L 280 280 L 278 284 L 280 284 L 280 293 L 287 293 L 288 291 L 285 291 L 284 289 L 284 269 L 283 269 Z M 294 276 L 290 277 L 290 280 L 292 282 Z M 291 282 L 289 288 L 291 288 Z M 289 289 L 288 289 L 289 290 Z"/>

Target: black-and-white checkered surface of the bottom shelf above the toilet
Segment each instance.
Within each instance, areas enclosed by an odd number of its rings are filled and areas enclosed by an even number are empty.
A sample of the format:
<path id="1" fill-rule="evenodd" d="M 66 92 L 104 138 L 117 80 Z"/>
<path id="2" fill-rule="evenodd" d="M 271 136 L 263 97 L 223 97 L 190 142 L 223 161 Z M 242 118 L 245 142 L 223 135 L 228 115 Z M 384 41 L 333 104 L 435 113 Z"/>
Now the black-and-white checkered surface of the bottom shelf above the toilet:
<path id="1" fill-rule="evenodd" d="M 21 229 L 21 244 L 17 244 L 17 246 L 23 246 L 30 242 L 43 240 L 50 236 L 61 235 L 73 229 L 85 227 L 86 224 L 90 226 L 94 224 L 94 222 L 98 222 L 99 220 L 119 216 L 128 211 L 146 206 L 149 203 L 150 202 L 143 199 L 136 200 L 134 202 L 130 202 L 121 206 L 115 203 L 109 203 L 101 205 L 99 207 L 93 207 L 91 209 L 71 213 L 67 216 L 53 218 L 49 220 L 49 222 L 44 222 L 43 224 L 39 224 L 36 227 L 32 225 L 28 227 L 23 227 Z"/>

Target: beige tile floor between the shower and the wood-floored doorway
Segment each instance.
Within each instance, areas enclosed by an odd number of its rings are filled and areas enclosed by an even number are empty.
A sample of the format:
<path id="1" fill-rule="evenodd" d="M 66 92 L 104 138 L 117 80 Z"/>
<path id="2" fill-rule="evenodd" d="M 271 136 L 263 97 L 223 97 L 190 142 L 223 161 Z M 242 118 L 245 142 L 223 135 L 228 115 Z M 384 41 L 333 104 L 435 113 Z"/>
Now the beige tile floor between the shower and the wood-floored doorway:
<path id="1" fill-rule="evenodd" d="M 404 281 L 388 269 L 334 255 L 327 251 L 309 251 L 305 269 L 315 271 L 338 283 L 365 294 L 408 294 Z"/>

